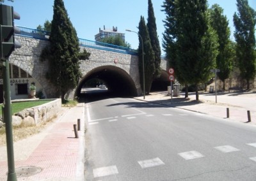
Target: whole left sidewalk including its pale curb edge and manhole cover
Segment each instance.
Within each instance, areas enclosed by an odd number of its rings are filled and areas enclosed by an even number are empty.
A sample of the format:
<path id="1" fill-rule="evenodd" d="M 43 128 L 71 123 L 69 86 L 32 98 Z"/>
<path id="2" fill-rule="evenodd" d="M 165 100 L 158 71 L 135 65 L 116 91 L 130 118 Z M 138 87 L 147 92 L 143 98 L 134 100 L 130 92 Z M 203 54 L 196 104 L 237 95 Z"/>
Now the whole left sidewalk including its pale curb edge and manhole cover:
<path id="1" fill-rule="evenodd" d="M 79 138 L 73 124 L 81 120 Z M 41 133 L 13 143 L 17 180 L 84 180 L 84 104 L 63 108 Z M 6 145 L 0 146 L 0 180 L 7 180 Z"/>

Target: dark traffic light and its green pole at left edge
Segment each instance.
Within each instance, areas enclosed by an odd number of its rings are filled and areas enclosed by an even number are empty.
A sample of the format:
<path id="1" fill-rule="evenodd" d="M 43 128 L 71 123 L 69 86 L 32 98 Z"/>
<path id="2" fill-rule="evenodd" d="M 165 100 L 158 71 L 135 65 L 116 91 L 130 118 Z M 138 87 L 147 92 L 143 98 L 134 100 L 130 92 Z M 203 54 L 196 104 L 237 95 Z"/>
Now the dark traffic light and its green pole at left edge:
<path id="1" fill-rule="evenodd" d="M 14 40 L 14 34 L 20 33 L 20 30 L 15 27 L 13 20 L 20 19 L 18 13 L 13 11 L 12 6 L 0 4 L 0 59 L 3 66 L 3 96 L 4 96 L 4 112 L 3 120 L 5 122 L 6 130 L 6 147 L 8 158 L 8 181 L 16 181 L 14 154 L 13 154 L 13 134 L 12 134 L 12 107 L 10 94 L 10 70 L 9 70 L 9 56 L 12 54 L 14 48 L 20 48 L 19 41 Z"/>

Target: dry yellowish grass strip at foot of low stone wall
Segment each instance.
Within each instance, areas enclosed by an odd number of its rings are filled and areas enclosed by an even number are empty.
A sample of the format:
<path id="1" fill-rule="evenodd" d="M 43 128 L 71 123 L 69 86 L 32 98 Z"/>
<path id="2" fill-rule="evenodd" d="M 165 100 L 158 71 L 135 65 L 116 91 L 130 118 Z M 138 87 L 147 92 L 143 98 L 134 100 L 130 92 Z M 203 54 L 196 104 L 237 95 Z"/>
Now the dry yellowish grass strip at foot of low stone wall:
<path id="1" fill-rule="evenodd" d="M 20 126 L 13 126 L 13 142 L 28 138 L 34 134 L 40 133 L 45 127 L 49 126 L 57 116 L 52 117 L 40 125 L 31 126 L 24 122 Z M 0 129 L 0 145 L 6 145 L 5 127 Z"/>

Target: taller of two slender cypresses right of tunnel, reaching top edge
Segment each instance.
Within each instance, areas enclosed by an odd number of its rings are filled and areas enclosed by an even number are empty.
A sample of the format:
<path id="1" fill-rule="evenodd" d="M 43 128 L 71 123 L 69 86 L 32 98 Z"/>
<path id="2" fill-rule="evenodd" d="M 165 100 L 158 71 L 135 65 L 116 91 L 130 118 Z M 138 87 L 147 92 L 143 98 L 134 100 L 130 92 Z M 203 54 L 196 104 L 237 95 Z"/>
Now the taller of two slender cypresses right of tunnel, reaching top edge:
<path id="1" fill-rule="evenodd" d="M 157 78 L 161 75 L 161 48 L 159 44 L 159 39 L 157 36 L 157 27 L 156 27 L 156 17 L 154 15 L 154 8 L 151 0 L 148 0 L 148 34 L 150 37 L 150 43 L 153 48 L 155 57 L 154 57 L 154 66 L 155 72 L 154 76 Z"/>

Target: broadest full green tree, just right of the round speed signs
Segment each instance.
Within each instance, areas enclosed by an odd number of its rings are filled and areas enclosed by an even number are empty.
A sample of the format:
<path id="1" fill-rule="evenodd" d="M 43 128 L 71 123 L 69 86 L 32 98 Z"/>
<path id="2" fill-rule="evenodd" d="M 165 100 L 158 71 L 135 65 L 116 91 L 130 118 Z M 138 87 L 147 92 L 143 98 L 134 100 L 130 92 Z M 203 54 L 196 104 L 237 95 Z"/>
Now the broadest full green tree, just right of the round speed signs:
<path id="1" fill-rule="evenodd" d="M 199 101 L 198 84 L 209 80 L 210 69 L 215 66 L 218 37 L 209 24 L 207 0 L 175 2 L 177 66 L 182 80 L 195 84 Z"/>

